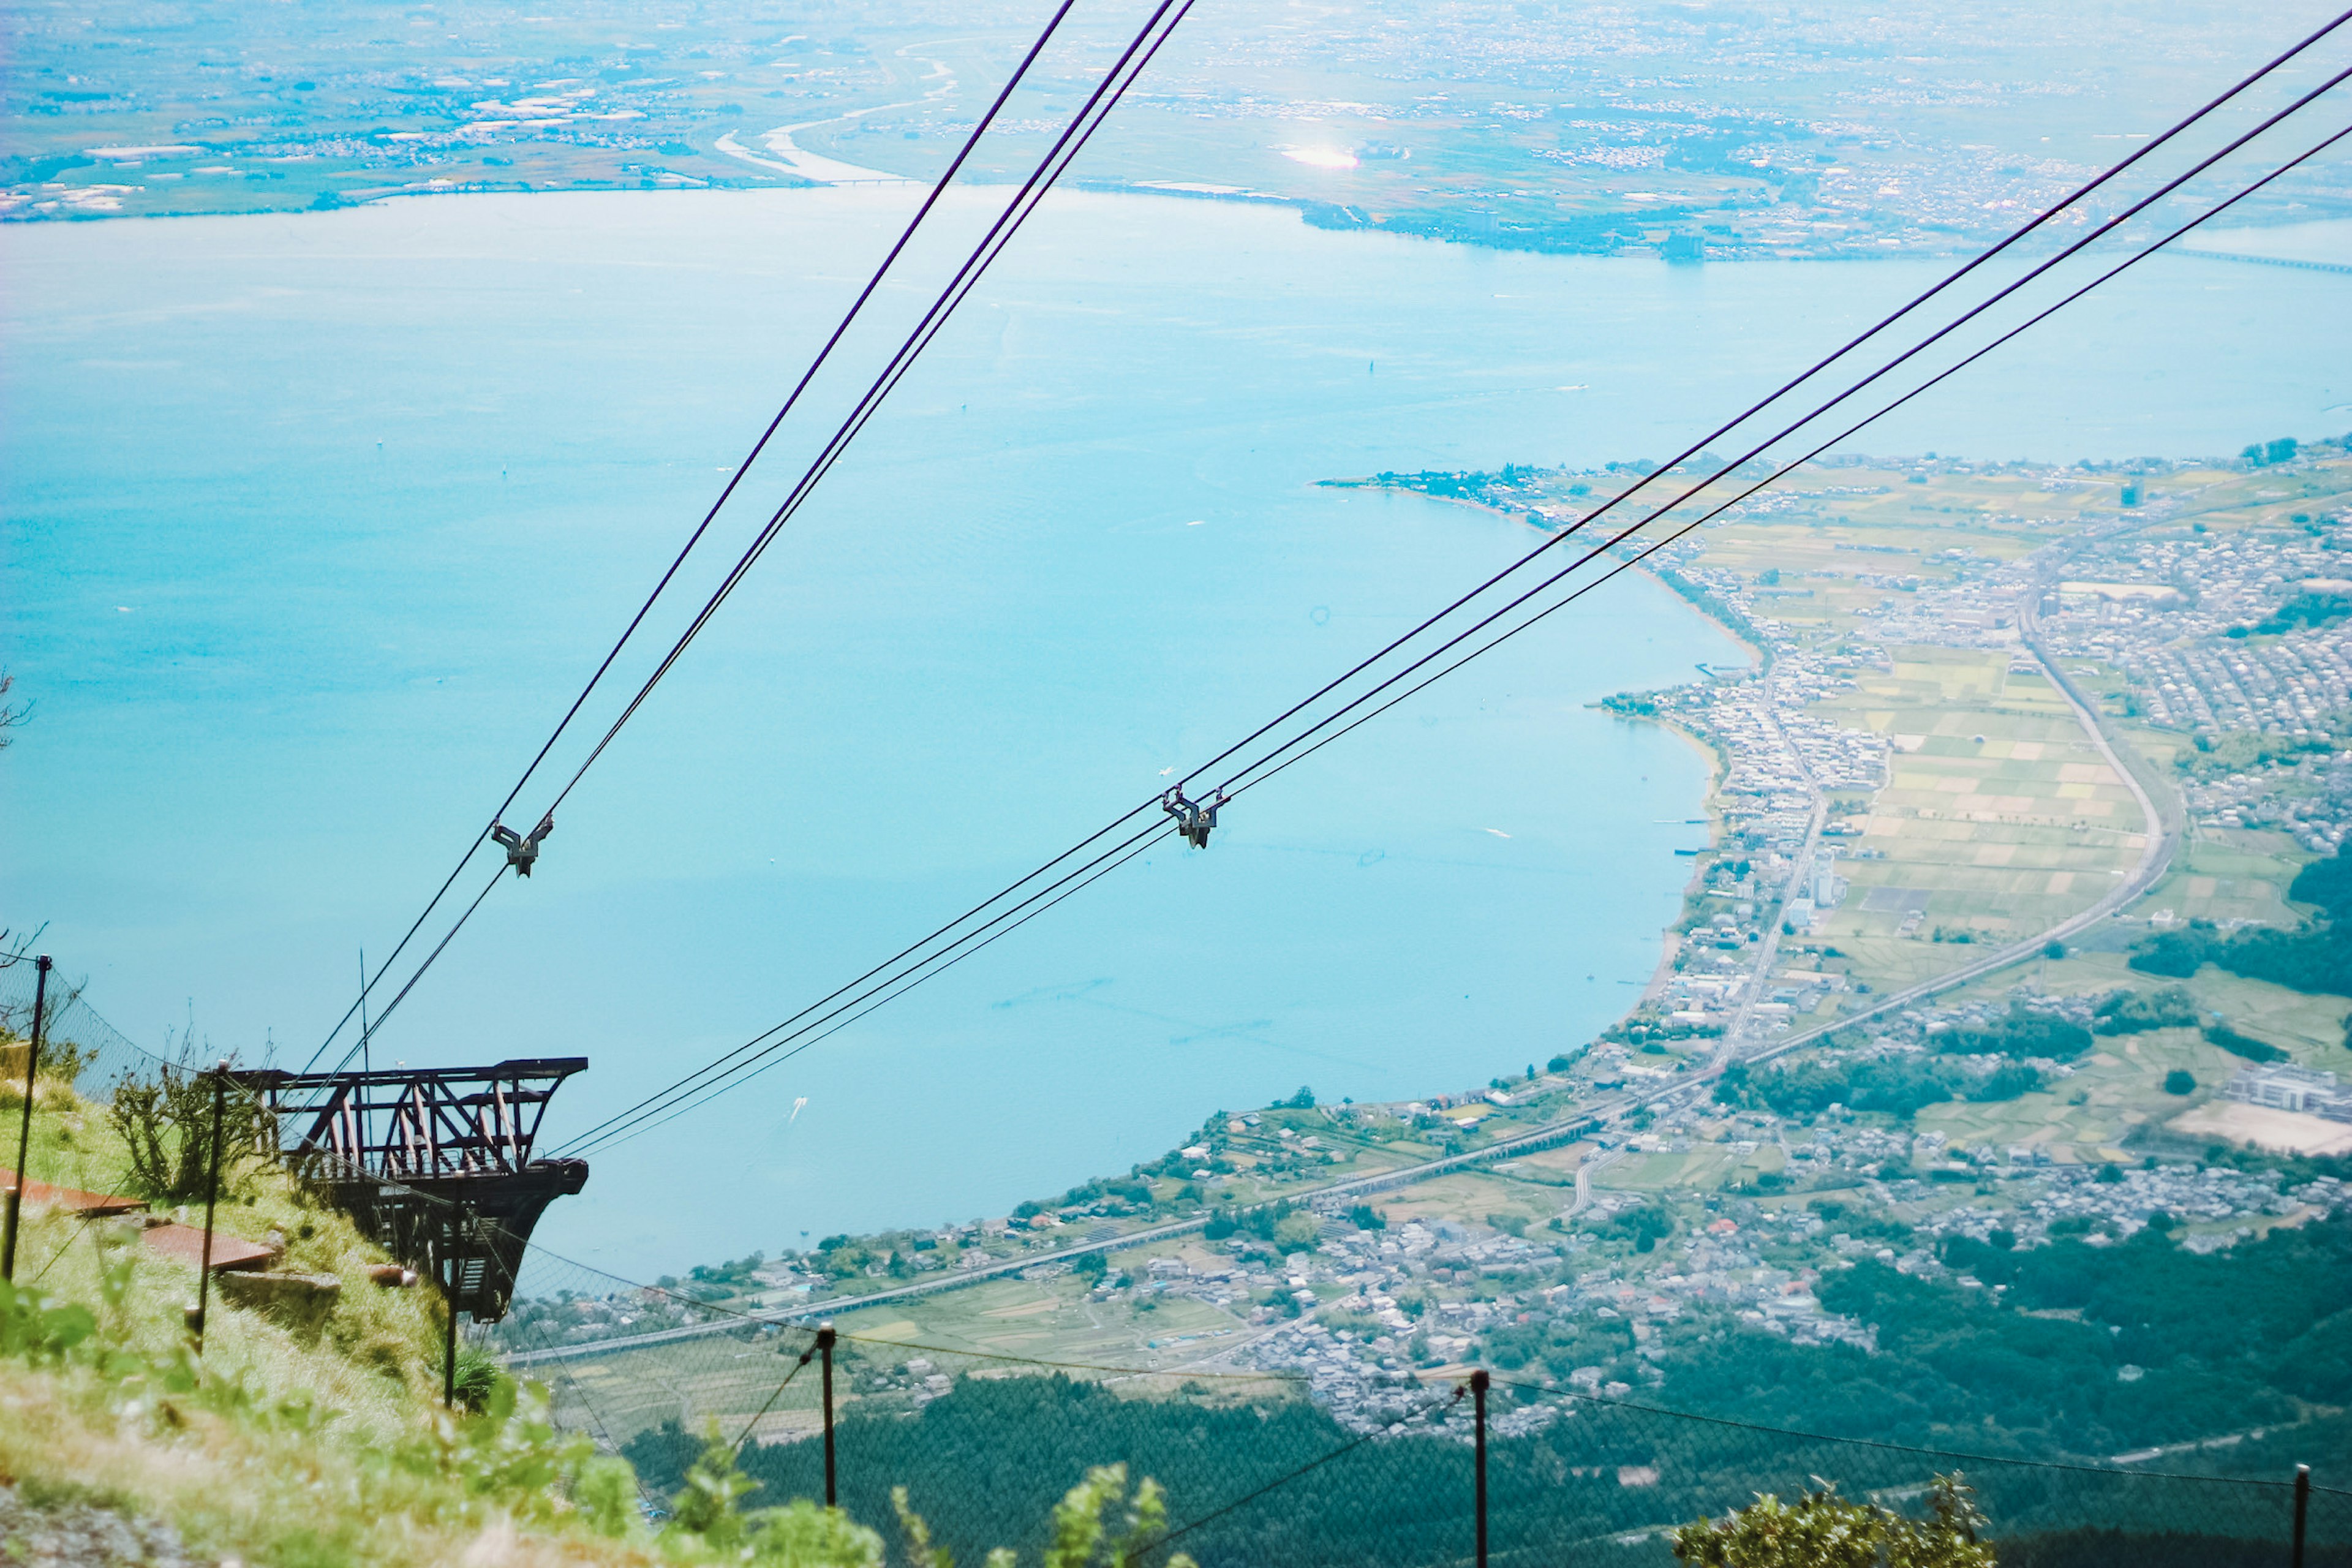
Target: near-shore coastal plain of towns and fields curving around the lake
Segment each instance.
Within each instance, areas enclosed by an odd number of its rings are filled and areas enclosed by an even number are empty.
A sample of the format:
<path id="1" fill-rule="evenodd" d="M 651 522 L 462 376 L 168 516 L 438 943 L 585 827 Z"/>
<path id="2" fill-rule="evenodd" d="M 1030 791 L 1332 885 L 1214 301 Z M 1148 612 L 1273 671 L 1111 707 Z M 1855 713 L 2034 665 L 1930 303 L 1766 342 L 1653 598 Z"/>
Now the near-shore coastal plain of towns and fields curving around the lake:
<path id="1" fill-rule="evenodd" d="M 1559 529 L 1630 477 L 1376 482 Z M 1955 1246 L 2216 1255 L 2338 1213 L 2340 999 L 2126 959 L 2291 924 L 2293 867 L 2345 837 L 2347 494 L 2338 444 L 1823 465 L 1642 559 L 1752 663 L 1609 701 L 1715 759 L 1712 846 L 1583 1048 L 1411 1103 L 1303 1088 L 1058 1201 L 524 1302 L 506 1342 L 588 1356 L 604 1399 L 659 1345 L 826 1316 L 870 1396 L 1122 1356 L 1369 1432 L 1472 1363 L 1649 1394 L 1693 1324 L 1875 1352 L 1823 1298 L 1856 1267 L 1997 1295 Z"/>

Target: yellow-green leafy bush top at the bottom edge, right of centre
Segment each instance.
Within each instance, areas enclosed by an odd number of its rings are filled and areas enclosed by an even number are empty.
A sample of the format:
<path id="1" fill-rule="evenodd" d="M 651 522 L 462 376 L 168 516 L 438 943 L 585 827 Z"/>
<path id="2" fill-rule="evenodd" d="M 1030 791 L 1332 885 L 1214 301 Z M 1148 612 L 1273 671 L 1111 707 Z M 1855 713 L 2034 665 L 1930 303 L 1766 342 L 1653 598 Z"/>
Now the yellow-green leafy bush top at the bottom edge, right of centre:
<path id="1" fill-rule="evenodd" d="M 1849 1502 L 1835 1486 L 1795 1502 L 1759 1495 L 1724 1519 L 1672 1533 L 1675 1561 L 1700 1568 L 1994 1568 L 1976 1540 L 1985 1516 L 1957 1476 L 1936 1476 L 1929 1519 Z"/>

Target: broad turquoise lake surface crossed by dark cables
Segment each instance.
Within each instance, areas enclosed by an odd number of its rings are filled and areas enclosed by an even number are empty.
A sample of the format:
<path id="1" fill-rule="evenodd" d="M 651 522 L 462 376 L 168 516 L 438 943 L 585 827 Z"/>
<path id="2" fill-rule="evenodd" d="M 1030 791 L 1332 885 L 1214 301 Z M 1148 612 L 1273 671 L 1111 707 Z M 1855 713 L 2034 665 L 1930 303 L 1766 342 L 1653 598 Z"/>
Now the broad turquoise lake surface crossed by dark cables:
<path id="1" fill-rule="evenodd" d="M 910 200 L 0 228 L 0 614 L 38 703 L 0 762 L 0 922 L 52 922 L 42 945 L 148 1046 L 193 1011 L 207 1053 L 301 1063 L 358 947 L 381 957 L 447 875 Z M 550 1128 L 588 1126 L 1531 543 L 1315 480 L 1665 456 L 1931 273 L 1058 197 L 376 1058 L 583 1053 Z M 1858 444 L 2072 458 L 2336 430 L 2343 287 L 2166 259 Z M 884 315 L 915 301 L 894 287 Z M 760 510 L 722 517 L 659 632 Z M 1002 1213 L 1298 1084 L 1435 1093 L 1581 1044 L 1656 964 L 1705 785 L 1689 745 L 1590 703 L 1726 658 L 1621 578 L 1251 792 L 1207 853 L 1155 851 L 597 1157 L 541 1234 L 644 1276 Z"/>

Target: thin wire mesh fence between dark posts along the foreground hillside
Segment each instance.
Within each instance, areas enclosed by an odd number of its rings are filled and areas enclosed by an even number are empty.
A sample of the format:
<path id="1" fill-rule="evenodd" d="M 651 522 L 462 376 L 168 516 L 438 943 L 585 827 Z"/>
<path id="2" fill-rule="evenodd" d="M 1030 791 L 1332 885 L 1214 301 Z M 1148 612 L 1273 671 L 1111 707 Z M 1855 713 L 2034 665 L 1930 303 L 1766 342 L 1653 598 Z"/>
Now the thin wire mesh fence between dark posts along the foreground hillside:
<path id="1" fill-rule="evenodd" d="M 7 1110 L 21 1110 L 33 980 L 28 964 L 0 969 Z M 169 1095 L 209 1093 L 214 1063 L 186 1041 L 181 1058 L 132 1044 L 71 987 L 52 990 L 35 1107 L 61 1114 L 40 1119 L 31 1180 L 165 1206 L 174 1185 L 195 1197 L 186 1140 L 141 1152 L 134 1135 L 141 1117 L 169 1112 Z M 94 1117 L 111 1135 L 89 1126 Z M 254 1095 L 238 1095 L 223 1126 L 223 1145 L 266 1147 Z M 42 1260 L 21 1267 L 38 1272 Z M 964 1561 L 990 1547 L 1040 1552 L 1061 1495 L 1110 1462 L 1167 1488 L 1162 1559 L 1181 1549 L 1204 1568 L 1477 1561 L 1479 1401 L 1465 1368 L 1397 1368 L 1371 1399 L 1336 1408 L 1317 1399 L 1310 1373 L 1249 1368 L 1235 1345 L 1042 1359 L 884 1324 L 821 1349 L 807 1319 L 746 1314 L 694 1291 L 532 1248 L 510 1312 L 468 1340 L 546 1385 L 562 1425 L 628 1458 L 656 1512 L 715 1434 L 757 1481 L 755 1505 L 823 1497 L 830 1448 L 830 1486 L 856 1521 L 891 1535 L 891 1490 L 903 1486 Z M 2352 1568 L 2352 1493 L 2328 1486 L 2352 1455 L 2343 1413 L 2314 1410 L 2147 1465 L 1788 1432 L 1512 1378 L 1494 1380 L 1484 1418 L 1491 1563 L 1658 1563 L 1670 1561 L 1665 1530 L 1759 1493 L 1835 1483 L 1846 1497 L 1919 1512 L 1933 1476 L 1962 1474 L 1992 1519 L 2002 1563 L 2284 1566 L 2293 1467 L 2317 1460 L 2303 1563 Z"/>

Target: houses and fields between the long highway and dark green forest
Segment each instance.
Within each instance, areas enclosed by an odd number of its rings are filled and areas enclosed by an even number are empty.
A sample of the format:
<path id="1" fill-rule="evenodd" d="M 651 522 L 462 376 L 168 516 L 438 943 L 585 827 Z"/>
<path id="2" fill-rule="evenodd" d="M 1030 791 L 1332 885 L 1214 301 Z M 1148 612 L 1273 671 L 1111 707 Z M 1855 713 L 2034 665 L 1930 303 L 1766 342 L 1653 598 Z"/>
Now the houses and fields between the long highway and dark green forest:
<path id="1" fill-rule="evenodd" d="M 2239 1077 L 2234 1093 L 2279 1098 L 2263 1074 Z M 2291 1093 L 2310 1088 L 2296 1084 Z M 2333 1093 L 2333 1079 L 2319 1088 Z M 2340 1105 L 2352 1133 L 2352 1093 Z M 1414 1114 L 1411 1107 L 1364 1114 L 1390 1112 Z M 1287 1110 L 1265 1140 L 1279 1147 L 1301 1138 L 1298 1126 L 1324 1126 L 1329 1133 L 1305 1135 L 1331 1143 L 1343 1121 L 1324 1110 Z M 1110 1314 L 1138 1324 L 1148 1338 L 1124 1354 L 1157 1366 L 1167 1380 L 1249 1373 L 1294 1380 L 1343 1425 L 1376 1432 L 1423 1410 L 1432 1382 L 1444 1385 L 1475 1363 L 1519 1371 L 1526 1361 L 1519 1345 L 1557 1342 L 1562 1333 L 1588 1359 L 1524 1366 L 1536 1385 L 1604 1399 L 1653 1396 L 1672 1382 L 1665 1335 L 1677 1324 L 1729 1321 L 1792 1347 L 1875 1349 L 1875 1328 L 1820 1295 L 1825 1276 L 1860 1262 L 1987 1291 L 1964 1265 L 1945 1260 L 1952 1239 L 1999 1248 L 2056 1239 L 2114 1246 L 2159 1225 L 2204 1255 L 2336 1213 L 2352 1197 L 2336 1173 L 2091 1164 L 2053 1159 L 2046 1147 L 1959 1147 L 1943 1133 L 1912 1133 L 1835 1105 L 1802 1117 L 1700 1105 L 1639 1133 L 1592 1138 L 1569 1154 L 1588 1180 L 1543 1185 L 1531 1180 L 1543 1171 L 1503 1161 L 1442 1197 L 1303 1208 L 1272 1239 L 1192 1234 L 1120 1253 L 1117 1265 L 1094 1274 L 1047 1260 L 1018 1276 L 927 1298 L 960 1302 L 948 1314 L 906 1300 L 861 1312 L 858 1281 L 795 1260 L 757 1265 L 743 1284 L 762 1300 L 837 1314 L 870 1399 L 906 1396 L 920 1408 L 964 1375 L 997 1375 L 1007 1354 L 1014 1363 L 1040 1354 L 1051 1361 L 1073 1331 L 1089 1333 Z M 1256 1168 L 1232 1145 L 1216 1159 Z M 1656 1185 L 1656 1173 L 1686 1173 L 1693 1164 L 1731 1180 Z M 1486 1204 L 1498 1211 L 1468 1213 Z M 1073 1225 L 1084 1225 L 1084 1215 Z M 1007 1244 L 1054 1251 L 1058 1229 L 1033 1215 L 1025 1227 L 948 1227 L 903 1237 L 901 1246 L 920 1248 L 917 1258 L 983 1262 Z M 889 1262 L 870 1260 L 866 1276 L 901 1279 Z M 722 1274 L 675 1284 L 680 1293 L 703 1288 L 727 1300 Z M 724 1307 L 677 1302 L 663 1293 L 581 1295 L 520 1312 L 508 1335 L 524 1349 L 524 1363 L 569 1368 L 564 1375 L 595 1389 L 604 1420 L 614 1420 L 607 1401 L 644 1380 L 640 1361 L 659 1363 L 666 1349 L 696 1345 L 633 1349 L 637 1338 L 743 1321 Z M 800 1312 L 771 1321 L 793 1316 Z M 680 1380 L 675 1368 L 663 1378 L 673 1387 Z M 724 1399 L 724 1382 L 708 1394 Z M 670 1406 L 656 1401 L 652 1413 L 661 1408 Z M 1555 1406 L 1515 1413 L 1519 1425 L 1552 1418 Z M 807 1420 L 779 1420 L 764 1441 L 807 1432 Z"/>

